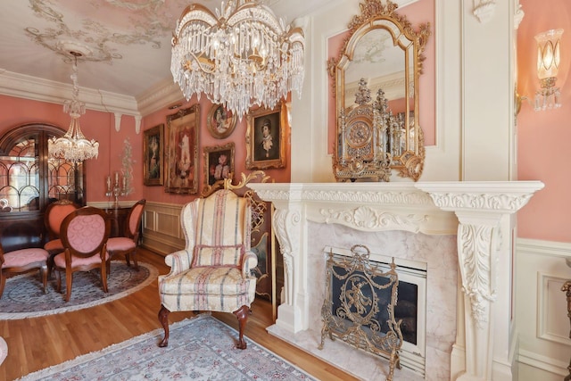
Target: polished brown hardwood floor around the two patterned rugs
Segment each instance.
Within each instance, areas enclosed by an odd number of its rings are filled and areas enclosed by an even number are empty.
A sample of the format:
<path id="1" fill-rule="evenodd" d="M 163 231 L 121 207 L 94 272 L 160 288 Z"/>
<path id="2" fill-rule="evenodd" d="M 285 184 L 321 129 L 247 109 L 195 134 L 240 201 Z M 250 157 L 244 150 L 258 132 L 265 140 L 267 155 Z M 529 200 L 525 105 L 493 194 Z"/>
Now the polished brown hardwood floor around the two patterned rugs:
<path id="1" fill-rule="evenodd" d="M 160 274 L 169 272 L 161 255 L 145 249 L 140 249 L 138 255 L 139 261 L 153 264 Z M 0 320 L 0 336 L 8 344 L 8 357 L 0 365 L 0 380 L 13 380 L 159 328 L 160 308 L 157 283 L 153 282 L 135 294 L 88 309 L 33 319 Z M 252 312 L 245 335 L 256 343 L 313 377 L 332 381 L 357 379 L 269 335 L 265 329 L 272 324 L 269 302 L 257 300 Z M 173 312 L 169 320 L 173 323 L 191 316 L 192 312 Z M 237 328 L 233 314 L 213 316 Z"/>

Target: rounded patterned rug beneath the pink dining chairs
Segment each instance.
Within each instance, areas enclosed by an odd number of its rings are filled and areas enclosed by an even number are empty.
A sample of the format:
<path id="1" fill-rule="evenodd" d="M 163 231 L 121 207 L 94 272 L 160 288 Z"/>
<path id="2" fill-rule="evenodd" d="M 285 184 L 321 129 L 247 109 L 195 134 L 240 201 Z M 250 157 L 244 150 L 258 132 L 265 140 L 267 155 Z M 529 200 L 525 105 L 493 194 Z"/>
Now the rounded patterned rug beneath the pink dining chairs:
<path id="1" fill-rule="evenodd" d="M 76 311 L 133 294 L 156 281 L 158 270 L 150 264 L 139 262 L 139 270 L 128 267 L 124 261 L 111 262 L 111 274 L 107 280 L 108 293 L 103 293 L 99 270 L 79 271 L 73 274 L 70 302 L 65 294 L 55 291 L 55 276 L 47 282 L 46 294 L 42 292 L 39 271 L 6 279 L 4 294 L 0 299 L 0 319 L 25 319 Z M 65 274 L 62 274 L 62 292 L 65 293 Z"/>

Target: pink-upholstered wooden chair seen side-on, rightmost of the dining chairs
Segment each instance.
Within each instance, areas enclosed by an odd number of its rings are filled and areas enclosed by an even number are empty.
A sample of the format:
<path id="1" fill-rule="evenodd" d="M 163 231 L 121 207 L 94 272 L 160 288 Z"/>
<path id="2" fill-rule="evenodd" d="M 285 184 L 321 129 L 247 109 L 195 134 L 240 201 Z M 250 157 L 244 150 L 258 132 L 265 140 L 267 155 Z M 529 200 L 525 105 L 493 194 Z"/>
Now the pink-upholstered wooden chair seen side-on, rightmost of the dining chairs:
<path id="1" fill-rule="evenodd" d="M 145 199 L 137 201 L 128 212 L 127 224 L 125 225 L 124 236 L 116 236 L 107 240 L 107 252 L 109 253 L 109 261 L 107 261 L 107 275 L 111 271 L 110 263 L 112 259 L 119 255 L 125 256 L 127 265 L 130 266 L 129 260 L 133 260 L 135 269 L 139 269 L 137 263 L 137 247 L 139 244 L 139 228 L 141 226 L 141 217 L 145 209 Z"/>

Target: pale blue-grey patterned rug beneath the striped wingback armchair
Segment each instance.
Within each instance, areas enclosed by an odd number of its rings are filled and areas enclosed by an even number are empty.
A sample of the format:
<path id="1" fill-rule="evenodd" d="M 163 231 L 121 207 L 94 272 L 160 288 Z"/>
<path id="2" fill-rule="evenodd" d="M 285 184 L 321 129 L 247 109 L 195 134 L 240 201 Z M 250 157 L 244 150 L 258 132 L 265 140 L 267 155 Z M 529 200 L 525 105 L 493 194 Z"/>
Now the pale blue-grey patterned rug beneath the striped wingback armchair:
<path id="1" fill-rule="evenodd" d="M 158 346 L 162 328 L 100 352 L 79 356 L 22 377 L 31 380 L 315 380 L 247 337 L 201 314 L 170 326 L 169 346 Z"/>

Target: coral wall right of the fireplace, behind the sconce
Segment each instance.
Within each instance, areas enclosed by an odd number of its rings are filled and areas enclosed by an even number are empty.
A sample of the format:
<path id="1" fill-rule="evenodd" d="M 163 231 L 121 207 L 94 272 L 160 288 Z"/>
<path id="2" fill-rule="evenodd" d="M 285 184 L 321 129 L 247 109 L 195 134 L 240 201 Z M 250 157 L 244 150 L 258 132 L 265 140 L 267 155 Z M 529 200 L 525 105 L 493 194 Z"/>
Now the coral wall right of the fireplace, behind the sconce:
<path id="1" fill-rule="evenodd" d="M 517 115 L 517 176 L 541 180 L 545 187 L 517 213 L 518 236 L 559 242 L 571 241 L 571 2 L 520 0 L 525 17 L 517 29 L 517 91 L 530 98 Z M 539 88 L 534 36 L 549 29 L 565 29 L 557 85 L 559 109 L 535 112 L 534 92 Z"/>

